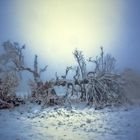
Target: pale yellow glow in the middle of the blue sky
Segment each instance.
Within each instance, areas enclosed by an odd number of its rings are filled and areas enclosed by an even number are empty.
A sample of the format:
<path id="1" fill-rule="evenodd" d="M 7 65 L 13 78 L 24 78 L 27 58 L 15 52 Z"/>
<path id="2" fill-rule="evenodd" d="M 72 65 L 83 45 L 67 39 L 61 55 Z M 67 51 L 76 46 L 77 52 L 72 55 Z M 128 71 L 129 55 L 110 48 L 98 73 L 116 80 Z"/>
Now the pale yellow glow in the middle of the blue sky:
<path id="1" fill-rule="evenodd" d="M 21 5 L 21 6 L 19 6 Z M 21 36 L 51 65 L 73 64 L 75 48 L 88 56 L 110 49 L 120 34 L 121 0 L 16 0 Z"/>

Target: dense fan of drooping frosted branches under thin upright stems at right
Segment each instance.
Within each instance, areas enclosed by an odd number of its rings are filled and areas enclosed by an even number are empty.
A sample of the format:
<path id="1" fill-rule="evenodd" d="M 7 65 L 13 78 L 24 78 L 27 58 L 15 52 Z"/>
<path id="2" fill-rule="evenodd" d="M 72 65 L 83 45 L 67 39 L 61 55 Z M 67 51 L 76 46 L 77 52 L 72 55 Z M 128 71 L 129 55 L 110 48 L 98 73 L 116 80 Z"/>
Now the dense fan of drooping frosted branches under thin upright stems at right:
<path id="1" fill-rule="evenodd" d="M 100 56 L 95 60 L 90 58 L 89 62 L 95 64 L 95 69 L 88 73 L 87 100 L 105 105 L 124 102 L 121 75 L 115 71 L 115 58 L 105 54 L 101 47 Z"/>

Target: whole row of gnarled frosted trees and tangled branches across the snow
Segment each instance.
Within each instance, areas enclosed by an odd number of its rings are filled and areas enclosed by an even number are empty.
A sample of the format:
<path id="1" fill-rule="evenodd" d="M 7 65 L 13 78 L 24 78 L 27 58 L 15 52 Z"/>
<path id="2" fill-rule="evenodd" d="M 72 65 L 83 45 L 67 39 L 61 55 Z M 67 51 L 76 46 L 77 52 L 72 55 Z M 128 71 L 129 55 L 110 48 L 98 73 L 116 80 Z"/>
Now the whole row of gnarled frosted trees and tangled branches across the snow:
<path id="1" fill-rule="evenodd" d="M 57 76 L 53 81 L 43 82 L 41 73 L 46 71 L 38 68 L 38 56 L 34 57 L 33 68 L 24 64 L 23 50 L 25 46 L 10 41 L 3 43 L 4 53 L 0 55 L 0 106 L 8 108 L 9 102 L 12 105 L 18 104 L 20 99 L 16 97 L 16 88 L 20 82 L 19 73 L 27 71 L 32 73 L 33 80 L 30 80 L 31 87 L 30 101 L 38 104 L 53 105 L 70 102 L 71 98 L 99 106 L 122 104 L 126 101 L 123 94 L 121 75 L 115 71 L 115 58 L 105 54 L 103 47 L 101 53 L 95 59 L 90 57 L 86 61 L 83 52 L 75 50 L 74 58 L 76 67 L 67 67 L 65 74 L 60 78 Z M 87 63 L 93 64 L 93 70 L 88 71 Z M 67 79 L 70 70 L 75 71 L 73 79 Z M 66 93 L 60 97 L 54 90 L 55 86 L 63 86 Z M 9 101 L 10 98 L 10 101 Z M 17 103 L 16 103 L 17 102 Z M 0 107 L 3 108 L 3 107 Z"/>

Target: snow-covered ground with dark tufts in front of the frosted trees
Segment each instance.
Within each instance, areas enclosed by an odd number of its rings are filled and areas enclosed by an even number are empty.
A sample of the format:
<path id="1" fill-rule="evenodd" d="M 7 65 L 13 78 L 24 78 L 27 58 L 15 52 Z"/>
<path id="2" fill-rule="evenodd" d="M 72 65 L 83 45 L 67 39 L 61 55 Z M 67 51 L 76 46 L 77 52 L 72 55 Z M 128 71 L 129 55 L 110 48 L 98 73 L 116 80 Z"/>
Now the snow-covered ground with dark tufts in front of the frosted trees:
<path id="1" fill-rule="evenodd" d="M 140 106 L 0 110 L 0 140 L 139 140 Z"/>

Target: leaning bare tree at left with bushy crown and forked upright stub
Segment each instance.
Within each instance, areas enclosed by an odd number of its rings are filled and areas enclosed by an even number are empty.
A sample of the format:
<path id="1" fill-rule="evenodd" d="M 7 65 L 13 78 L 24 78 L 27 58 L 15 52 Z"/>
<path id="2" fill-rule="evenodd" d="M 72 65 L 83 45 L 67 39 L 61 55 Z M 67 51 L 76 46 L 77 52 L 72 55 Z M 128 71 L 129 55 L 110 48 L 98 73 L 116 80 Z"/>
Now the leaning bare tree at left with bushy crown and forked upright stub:
<path id="1" fill-rule="evenodd" d="M 3 48 L 5 50 L 5 56 L 8 56 L 8 59 L 10 59 L 10 61 L 14 64 L 13 66 L 16 71 L 28 71 L 33 74 L 35 82 L 40 80 L 40 75 L 42 72 L 46 71 L 47 66 L 45 66 L 43 69 L 40 69 L 39 71 L 37 55 L 35 55 L 34 68 L 32 69 L 24 64 L 23 50 L 25 49 L 25 45 L 20 46 L 18 43 L 6 41 L 3 43 Z"/>

